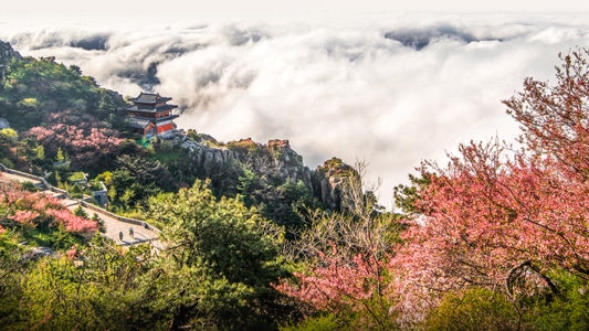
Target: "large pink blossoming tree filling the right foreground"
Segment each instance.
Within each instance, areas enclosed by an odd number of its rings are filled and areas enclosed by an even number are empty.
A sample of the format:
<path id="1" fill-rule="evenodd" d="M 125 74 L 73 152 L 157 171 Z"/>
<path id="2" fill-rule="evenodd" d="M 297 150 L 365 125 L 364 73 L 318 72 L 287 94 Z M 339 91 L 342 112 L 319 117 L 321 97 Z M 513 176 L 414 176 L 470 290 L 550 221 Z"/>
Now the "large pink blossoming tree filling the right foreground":
<path id="1" fill-rule="evenodd" d="M 528 78 L 505 102 L 522 125 L 522 149 L 471 142 L 445 167 L 423 162 L 421 214 L 391 259 L 406 314 L 422 318 L 444 293 L 469 287 L 514 297 L 558 292 L 557 270 L 589 278 L 587 55 L 561 57 L 556 86 Z"/>

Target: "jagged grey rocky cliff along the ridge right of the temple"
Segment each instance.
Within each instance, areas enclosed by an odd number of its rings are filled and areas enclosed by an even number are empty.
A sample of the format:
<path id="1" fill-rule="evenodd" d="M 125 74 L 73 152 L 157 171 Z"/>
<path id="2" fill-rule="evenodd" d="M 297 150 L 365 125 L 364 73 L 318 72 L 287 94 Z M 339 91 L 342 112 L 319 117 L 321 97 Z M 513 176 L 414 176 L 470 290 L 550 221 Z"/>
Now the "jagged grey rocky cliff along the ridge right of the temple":
<path id="1" fill-rule="evenodd" d="M 337 158 L 311 170 L 286 139 L 260 143 L 246 138 L 220 143 L 210 136 L 198 135 L 194 139 L 194 135 L 192 138 L 187 135 L 181 146 L 188 150 L 192 174 L 197 177 L 218 178 L 227 184 L 231 178 L 239 181 L 241 169 L 245 167 L 257 175 L 270 175 L 277 184 L 302 182 L 318 201 L 335 211 L 341 210 L 345 179 L 354 172 L 350 166 Z M 227 185 L 236 188 L 238 184 Z"/>

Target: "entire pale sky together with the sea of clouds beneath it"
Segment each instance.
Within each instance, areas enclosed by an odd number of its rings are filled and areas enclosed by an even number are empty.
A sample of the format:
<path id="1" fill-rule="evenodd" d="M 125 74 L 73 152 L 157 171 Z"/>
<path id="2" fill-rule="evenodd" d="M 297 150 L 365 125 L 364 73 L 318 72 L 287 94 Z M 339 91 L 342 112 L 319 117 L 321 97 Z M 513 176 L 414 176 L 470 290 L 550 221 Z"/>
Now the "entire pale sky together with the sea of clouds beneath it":
<path id="1" fill-rule="evenodd" d="M 311 169 L 366 162 L 387 207 L 422 160 L 514 141 L 502 100 L 589 41 L 589 1 L 81 3 L 10 1 L 0 40 L 172 97 L 179 127 L 220 141 L 288 139 Z"/>

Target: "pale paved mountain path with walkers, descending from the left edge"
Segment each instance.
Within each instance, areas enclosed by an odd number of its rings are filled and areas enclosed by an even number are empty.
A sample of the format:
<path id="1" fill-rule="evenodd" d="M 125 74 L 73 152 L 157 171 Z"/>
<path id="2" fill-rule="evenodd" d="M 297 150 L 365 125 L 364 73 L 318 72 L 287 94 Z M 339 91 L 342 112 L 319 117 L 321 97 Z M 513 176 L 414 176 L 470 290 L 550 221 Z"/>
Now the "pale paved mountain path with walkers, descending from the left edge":
<path id="1" fill-rule="evenodd" d="M 42 193 L 59 197 L 71 211 L 82 206 L 87 215 L 92 216 L 97 214 L 98 217 L 103 220 L 106 228 L 104 236 L 115 241 L 115 243 L 118 245 L 132 246 L 141 243 L 149 243 L 154 248 L 160 250 L 164 249 L 164 245 L 159 241 L 160 231 L 146 222 L 122 217 L 82 200 L 71 199 L 65 191 L 50 185 L 43 178 L 20 172 L 2 164 L 0 164 L 0 172 L 2 177 L 8 178 L 9 180 L 32 182 L 42 191 Z"/>

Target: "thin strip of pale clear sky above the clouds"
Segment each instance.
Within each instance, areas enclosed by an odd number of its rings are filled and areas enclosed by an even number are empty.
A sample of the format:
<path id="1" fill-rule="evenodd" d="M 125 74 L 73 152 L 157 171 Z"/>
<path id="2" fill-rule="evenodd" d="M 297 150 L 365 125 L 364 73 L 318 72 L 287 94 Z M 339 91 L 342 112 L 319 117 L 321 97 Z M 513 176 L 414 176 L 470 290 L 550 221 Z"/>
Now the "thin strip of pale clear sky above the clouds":
<path id="1" fill-rule="evenodd" d="M 589 12 L 580 0 L 29 0 L 7 1 L 0 17 L 19 15 L 52 23 L 135 23 L 138 15 L 152 20 L 350 20 L 359 15 L 392 13 L 514 13 Z"/>

